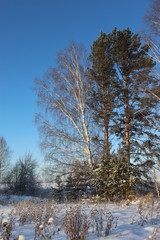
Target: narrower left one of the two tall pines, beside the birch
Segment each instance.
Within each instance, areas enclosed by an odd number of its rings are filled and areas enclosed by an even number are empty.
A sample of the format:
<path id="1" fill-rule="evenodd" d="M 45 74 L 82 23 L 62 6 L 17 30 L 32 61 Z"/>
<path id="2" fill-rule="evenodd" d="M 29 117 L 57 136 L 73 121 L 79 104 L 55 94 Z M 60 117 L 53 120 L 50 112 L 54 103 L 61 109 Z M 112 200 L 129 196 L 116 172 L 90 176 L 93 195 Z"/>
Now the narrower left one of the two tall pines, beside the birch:
<path id="1" fill-rule="evenodd" d="M 112 38 L 101 32 L 93 42 L 90 60 L 92 67 L 90 77 L 92 88 L 89 104 L 94 110 L 95 122 L 104 128 L 104 149 L 106 158 L 109 156 L 109 128 L 114 109 L 114 84 L 116 71 L 112 59 Z"/>

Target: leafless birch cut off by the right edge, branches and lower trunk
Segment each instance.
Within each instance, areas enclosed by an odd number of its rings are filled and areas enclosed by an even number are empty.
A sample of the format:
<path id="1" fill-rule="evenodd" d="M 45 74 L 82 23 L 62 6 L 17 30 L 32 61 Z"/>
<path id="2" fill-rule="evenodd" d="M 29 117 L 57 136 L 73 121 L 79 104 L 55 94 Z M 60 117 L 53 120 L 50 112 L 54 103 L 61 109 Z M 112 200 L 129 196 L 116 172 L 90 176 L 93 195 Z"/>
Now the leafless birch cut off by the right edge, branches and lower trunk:
<path id="1" fill-rule="evenodd" d="M 152 0 L 149 11 L 145 15 L 145 23 L 147 32 L 146 41 L 150 46 L 150 55 L 153 57 L 153 60 L 156 62 L 156 69 L 154 71 L 155 79 L 157 80 L 157 84 L 152 89 L 145 89 L 146 93 L 149 94 L 151 97 L 155 98 L 155 100 L 159 101 L 160 103 L 160 45 L 159 45 L 159 37 L 160 37 L 160 0 Z M 159 115 L 160 112 L 160 104 L 158 105 L 159 108 L 157 109 L 157 113 Z M 148 120 L 148 119 L 147 119 Z M 153 119 L 153 129 L 158 132 L 160 136 L 160 121 L 159 118 Z M 157 143 L 158 144 L 158 143 Z M 158 148 L 159 149 L 159 148 Z M 155 152 L 152 149 L 150 151 L 155 156 Z M 157 158 L 152 157 L 152 161 L 155 162 L 154 166 L 154 179 L 156 184 L 157 195 L 159 197 L 159 189 L 158 189 L 158 182 L 155 168 L 160 163 L 160 149 L 156 152 Z M 159 171 L 159 167 L 157 169 Z"/>

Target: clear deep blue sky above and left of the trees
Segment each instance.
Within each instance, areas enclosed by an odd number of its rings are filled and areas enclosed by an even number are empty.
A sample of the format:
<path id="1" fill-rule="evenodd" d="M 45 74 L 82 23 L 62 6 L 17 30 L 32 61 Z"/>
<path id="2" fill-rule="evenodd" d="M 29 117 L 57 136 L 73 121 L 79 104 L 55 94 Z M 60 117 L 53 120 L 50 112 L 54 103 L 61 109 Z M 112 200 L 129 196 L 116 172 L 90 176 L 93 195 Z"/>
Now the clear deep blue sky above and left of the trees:
<path id="1" fill-rule="evenodd" d="M 13 159 L 33 153 L 42 160 L 34 124 L 32 90 L 71 40 L 88 52 L 100 31 L 143 28 L 149 0 L 0 0 L 0 136 Z"/>

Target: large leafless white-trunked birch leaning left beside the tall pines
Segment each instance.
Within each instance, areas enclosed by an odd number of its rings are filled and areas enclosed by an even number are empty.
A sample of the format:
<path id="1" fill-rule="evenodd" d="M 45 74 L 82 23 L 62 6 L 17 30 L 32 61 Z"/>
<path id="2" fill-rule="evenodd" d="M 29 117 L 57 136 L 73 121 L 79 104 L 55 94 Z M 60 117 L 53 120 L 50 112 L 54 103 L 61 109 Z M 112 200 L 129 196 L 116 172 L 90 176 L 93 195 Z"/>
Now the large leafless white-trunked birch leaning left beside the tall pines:
<path id="1" fill-rule="evenodd" d="M 74 42 L 57 56 L 57 68 L 35 80 L 38 105 L 45 114 L 37 114 L 47 159 L 56 163 L 56 172 L 63 166 L 87 161 L 92 167 L 91 111 L 87 106 L 89 81 L 85 49 Z"/>

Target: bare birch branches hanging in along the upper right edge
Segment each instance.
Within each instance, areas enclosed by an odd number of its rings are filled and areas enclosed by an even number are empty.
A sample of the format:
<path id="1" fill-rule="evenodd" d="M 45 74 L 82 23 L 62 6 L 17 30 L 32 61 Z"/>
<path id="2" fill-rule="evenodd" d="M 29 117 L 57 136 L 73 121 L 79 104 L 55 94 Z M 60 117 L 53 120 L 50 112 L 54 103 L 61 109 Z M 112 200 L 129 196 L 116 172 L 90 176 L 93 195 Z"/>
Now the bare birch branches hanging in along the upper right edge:
<path id="1" fill-rule="evenodd" d="M 146 87 L 142 89 L 143 92 L 146 93 L 149 100 L 154 99 L 157 102 L 157 108 L 155 111 L 155 115 L 152 119 L 146 119 L 152 124 L 154 132 L 159 136 L 159 142 L 156 141 L 155 145 L 157 149 L 153 150 L 153 146 L 149 145 L 150 151 L 152 152 L 152 158 L 156 158 L 159 161 L 160 156 L 160 0 L 154 0 L 150 4 L 149 11 L 145 15 L 145 26 L 146 26 L 146 42 L 150 47 L 150 52 L 148 55 L 153 58 L 156 62 L 156 68 L 154 68 L 153 76 L 155 78 L 155 84 L 152 87 Z M 152 138 L 153 139 L 153 138 Z M 153 157 L 154 156 L 154 157 Z"/>

